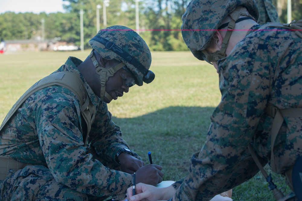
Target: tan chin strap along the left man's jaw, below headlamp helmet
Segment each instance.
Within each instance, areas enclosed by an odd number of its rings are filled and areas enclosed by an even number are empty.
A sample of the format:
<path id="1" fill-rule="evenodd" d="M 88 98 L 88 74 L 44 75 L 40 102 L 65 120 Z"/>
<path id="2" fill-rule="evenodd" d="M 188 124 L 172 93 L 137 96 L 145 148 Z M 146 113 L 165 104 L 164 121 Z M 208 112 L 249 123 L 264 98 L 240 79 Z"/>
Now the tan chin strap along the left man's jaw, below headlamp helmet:
<path id="1" fill-rule="evenodd" d="M 123 62 L 120 62 L 119 64 L 117 64 L 114 67 L 111 68 L 104 68 L 101 67 L 98 64 L 98 61 L 95 58 L 95 55 L 93 54 L 94 49 L 92 49 L 92 51 L 90 52 L 89 57 L 92 60 L 93 65 L 95 66 L 95 72 L 100 75 L 100 80 L 101 80 L 101 93 L 100 93 L 100 98 L 101 101 L 104 101 L 104 97 L 106 97 L 109 102 L 112 101 L 112 97 L 109 95 L 109 93 L 106 92 L 106 81 L 108 81 L 108 78 L 113 76 L 115 72 L 117 72 L 118 70 L 120 70 L 121 68 L 123 68 L 125 66 L 125 64 Z"/>

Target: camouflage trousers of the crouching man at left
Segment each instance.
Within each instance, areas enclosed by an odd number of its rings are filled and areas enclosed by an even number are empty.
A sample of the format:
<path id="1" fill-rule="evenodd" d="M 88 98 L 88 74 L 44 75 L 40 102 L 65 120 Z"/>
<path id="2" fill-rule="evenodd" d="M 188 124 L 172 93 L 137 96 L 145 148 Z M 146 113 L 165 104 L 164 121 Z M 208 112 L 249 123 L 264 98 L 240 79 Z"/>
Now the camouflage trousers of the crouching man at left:
<path id="1" fill-rule="evenodd" d="M 136 157 L 140 158 L 138 155 Z M 101 162 L 111 169 L 120 170 L 120 166 L 117 163 Z M 5 180 L 0 182 L 1 201 L 95 201 L 104 200 L 110 196 L 96 197 L 73 190 L 58 183 L 50 170 L 42 165 L 27 165 L 17 171 L 10 170 Z"/>

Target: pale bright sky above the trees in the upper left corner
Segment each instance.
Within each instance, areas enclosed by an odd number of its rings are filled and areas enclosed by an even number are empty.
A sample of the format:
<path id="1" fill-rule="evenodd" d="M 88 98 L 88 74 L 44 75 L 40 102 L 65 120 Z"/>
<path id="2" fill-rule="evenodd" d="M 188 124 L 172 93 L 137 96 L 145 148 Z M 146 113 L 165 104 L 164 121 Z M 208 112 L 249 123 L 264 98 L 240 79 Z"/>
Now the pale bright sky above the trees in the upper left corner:
<path id="1" fill-rule="evenodd" d="M 0 14 L 7 11 L 36 14 L 64 12 L 63 4 L 66 4 L 63 0 L 0 0 Z"/>

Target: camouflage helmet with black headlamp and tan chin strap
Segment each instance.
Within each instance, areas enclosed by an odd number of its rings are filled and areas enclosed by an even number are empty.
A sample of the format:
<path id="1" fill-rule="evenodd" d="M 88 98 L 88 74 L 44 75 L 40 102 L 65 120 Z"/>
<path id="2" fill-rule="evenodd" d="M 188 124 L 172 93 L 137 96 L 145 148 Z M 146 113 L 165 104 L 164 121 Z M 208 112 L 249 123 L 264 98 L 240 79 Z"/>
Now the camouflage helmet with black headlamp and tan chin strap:
<path id="1" fill-rule="evenodd" d="M 97 73 L 100 74 L 102 86 L 105 86 L 108 77 L 113 76 L 115 71 L 125 65 L 127 70 L 133 74 L 135 84 L 138 86 L 142 86 L 143 83 L 148 84 L 154 80 L 155 74 L 152 71 L 149 71 L 151 65 L 151 52 L 142 37 L 132 29 L 120 25 L 101 29 L 91 40 L 89 40 L 89 44 L 92 47 L 90 57 L 92 58 L 95 67 L 98 69 Z M 96 50 L 102 58 L 116 59 L 121 62 L 121 65 L 109 70 L 98 66 L 97 61 L 93 56 L 94 50 Z M 106 93 L 104 91 L 105 87 L 102 88 L 101 99 L 102 96 L 104 97 L 104 93 Z M 106 94 L 108 96 L 108 93 Z"/>

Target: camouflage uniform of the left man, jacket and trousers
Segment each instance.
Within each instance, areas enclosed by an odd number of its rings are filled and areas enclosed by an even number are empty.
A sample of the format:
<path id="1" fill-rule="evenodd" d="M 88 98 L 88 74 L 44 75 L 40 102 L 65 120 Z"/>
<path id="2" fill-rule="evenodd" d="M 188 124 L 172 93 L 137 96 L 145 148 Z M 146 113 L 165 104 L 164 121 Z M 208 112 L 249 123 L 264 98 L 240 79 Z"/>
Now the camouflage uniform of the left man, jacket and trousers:
<path id="1" fill-rule="evenodd" d="M 96 107 L 88 138 L 92 154 L 86 154 L 83 146 L 85 122 L 76 96 L 58 85 L 37 91 L 0 133 L 0 155 L 32 164 L 9 172 L 0 184 L 2 200 L 87 200 L 95 196 L 122 199 L 131 186 L 131 174 L 118 171 L 120 165 L 114 159 L 118 149 L 129 146 L 112 121 L 107 104 L 93 93 L 77 70 L 80 63 L 69 57 L 55 72 L 79 74 Z"/>

